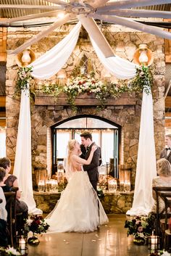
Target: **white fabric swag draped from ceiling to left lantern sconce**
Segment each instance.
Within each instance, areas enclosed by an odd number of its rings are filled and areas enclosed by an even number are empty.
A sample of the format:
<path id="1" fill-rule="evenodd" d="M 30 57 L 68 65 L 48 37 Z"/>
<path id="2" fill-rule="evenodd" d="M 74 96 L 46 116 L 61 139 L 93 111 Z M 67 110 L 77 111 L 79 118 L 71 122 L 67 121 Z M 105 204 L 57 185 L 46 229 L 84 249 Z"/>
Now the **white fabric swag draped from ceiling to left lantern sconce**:
<path id="1" fill-rule="evenodd" d="M 81 24 L 78 22 L 59 44 L 47 51 L 46 54 L 43 54 L 40 58 L 36 59 L 35 62 L 32 62 L 30 66 L 33 66 L 33 77 L 38 79 L 48 79 L 62 69 L 67 62 L 67 59 L 69 59 L 72 54 L 72 51 L 75 49 L 80 33 L 80 27 Z"/>

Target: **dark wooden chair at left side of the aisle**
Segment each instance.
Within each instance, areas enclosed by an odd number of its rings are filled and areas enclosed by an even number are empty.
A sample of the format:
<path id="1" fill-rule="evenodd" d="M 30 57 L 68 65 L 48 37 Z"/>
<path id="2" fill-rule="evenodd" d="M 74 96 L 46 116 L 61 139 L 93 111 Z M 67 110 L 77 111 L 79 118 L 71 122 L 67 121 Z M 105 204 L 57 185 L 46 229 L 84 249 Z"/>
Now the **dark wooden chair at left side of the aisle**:
<path id="1" fill-rule="evenodd" d="M 16 191 L 4 192 L 7 201 L 7 228 L 9 229 L 9 243 L 12 247 L 16 244 Z"/>

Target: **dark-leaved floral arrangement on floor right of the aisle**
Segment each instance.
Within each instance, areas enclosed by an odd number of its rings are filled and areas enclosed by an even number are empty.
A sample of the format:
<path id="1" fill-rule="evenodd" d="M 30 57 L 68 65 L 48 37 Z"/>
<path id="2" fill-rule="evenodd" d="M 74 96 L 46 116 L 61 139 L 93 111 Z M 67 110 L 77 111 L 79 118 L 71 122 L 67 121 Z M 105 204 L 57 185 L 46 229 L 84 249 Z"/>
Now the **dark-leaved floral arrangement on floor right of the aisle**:
<path id="1" fill-rule="evenodd" d="M 127 234 L 135 236 L 135 239 L 146 238 L 154 230 L 154 215 L 136 216 L 132 220 L 125 221 L 125 228 L 128 228 Z"/>

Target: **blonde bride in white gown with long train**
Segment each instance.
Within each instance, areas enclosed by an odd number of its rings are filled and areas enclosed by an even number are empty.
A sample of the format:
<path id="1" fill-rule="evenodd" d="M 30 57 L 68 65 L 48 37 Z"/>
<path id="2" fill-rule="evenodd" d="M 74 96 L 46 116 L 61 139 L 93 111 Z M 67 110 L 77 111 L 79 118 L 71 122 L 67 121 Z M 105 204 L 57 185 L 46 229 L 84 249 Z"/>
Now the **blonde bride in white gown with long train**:
<path id="1" fill-rule="evenodd" d="M 80 144 L 75 139 L 68 142 L 66 162 L 67 187 L 54 210 L 46 217 L 50 232 L 91 232 L 109 220 L 91 186 L 83 165 L 89 165 L 97 146 L 92 146 L 88 160 L 79 157 Z"/>

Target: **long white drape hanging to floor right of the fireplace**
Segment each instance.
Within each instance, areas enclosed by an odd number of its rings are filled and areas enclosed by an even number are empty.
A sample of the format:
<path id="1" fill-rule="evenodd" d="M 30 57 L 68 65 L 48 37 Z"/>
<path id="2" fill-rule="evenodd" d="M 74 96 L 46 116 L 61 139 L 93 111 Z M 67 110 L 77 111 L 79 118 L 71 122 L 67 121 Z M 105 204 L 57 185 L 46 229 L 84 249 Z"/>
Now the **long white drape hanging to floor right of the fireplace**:
<path id="1" fill-rule="evenodd" d="M 154 204 L 152 179 L 157 176 L 154 144 L 153 100 L 143 91 L 141 125 L 138 144 L 138 160 L 135 177 L 133 206 L 128 215 L 148 215 Z"/>

